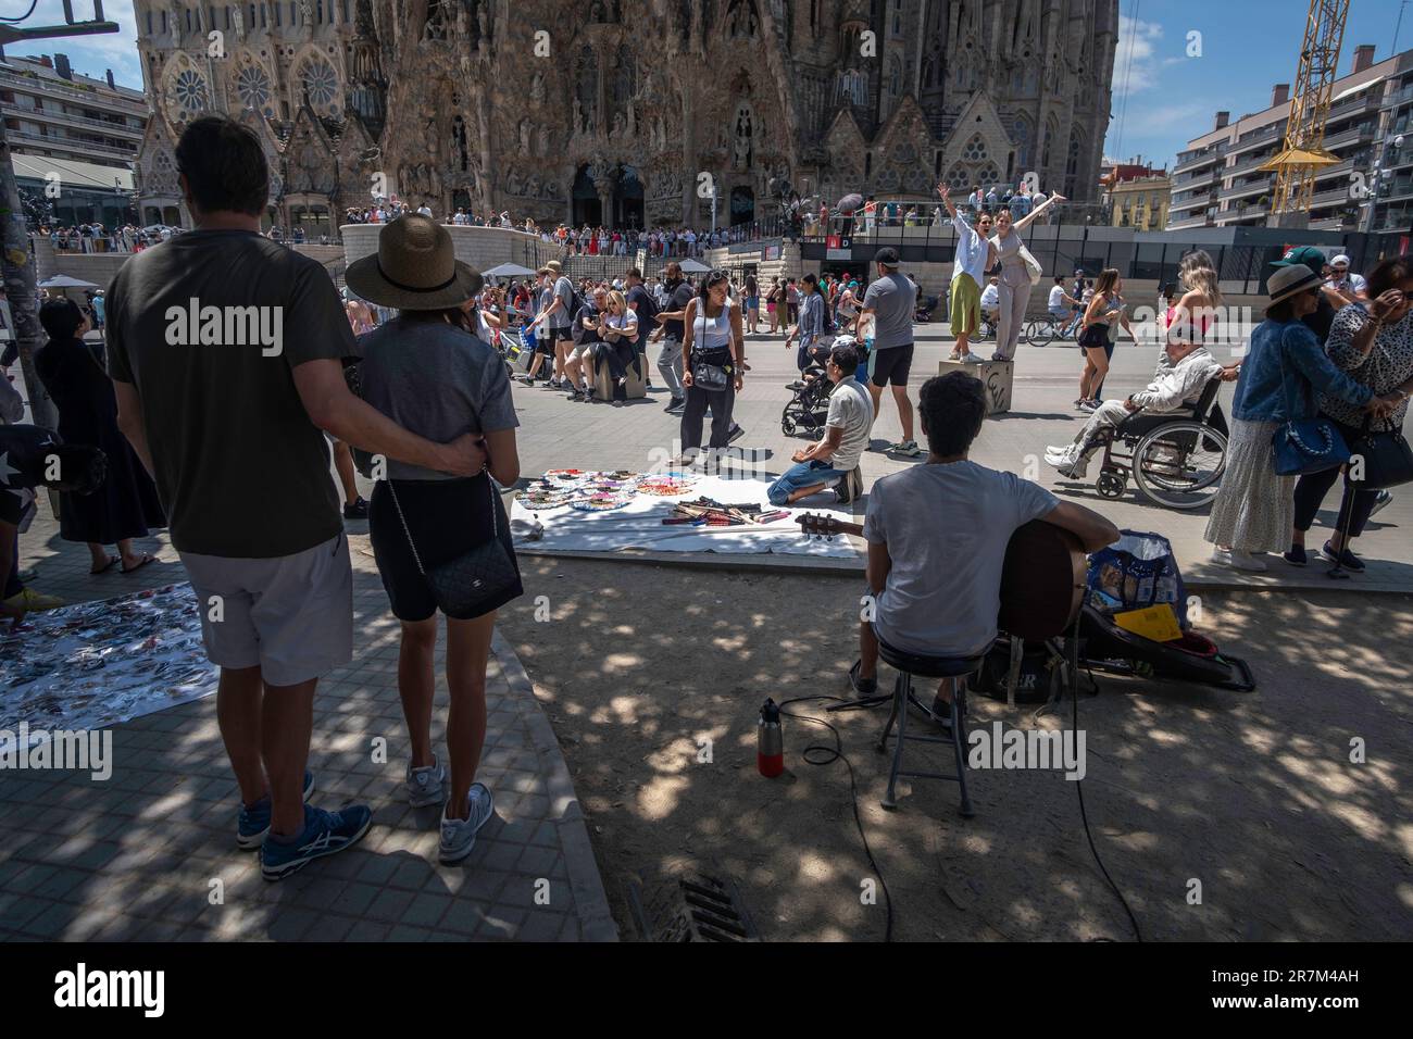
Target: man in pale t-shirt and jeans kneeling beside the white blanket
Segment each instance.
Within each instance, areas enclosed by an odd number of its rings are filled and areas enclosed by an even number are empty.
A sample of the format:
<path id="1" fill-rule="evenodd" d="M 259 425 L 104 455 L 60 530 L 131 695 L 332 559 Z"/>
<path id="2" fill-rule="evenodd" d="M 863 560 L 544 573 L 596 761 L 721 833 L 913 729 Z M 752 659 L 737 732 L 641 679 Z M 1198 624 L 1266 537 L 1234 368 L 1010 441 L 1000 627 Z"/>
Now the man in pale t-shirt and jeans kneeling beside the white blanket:
<path id="1" fill-rule="evenodd" d="M 839 502 L 852 502 L 863 492 L 859 457 L 869 445 L 873 425 L 873 400 L 853 373 L 859 368 L 859 352 L 853 346 L 829 351 L 825 372 L 834 390 L 829 413 L 824 421 L 824 437 L 814 447 L 796 451 L 794 465 L 786 469 L 766 496 L 771 505 L 794 505 L 801 498 L 835 488 Z"/>

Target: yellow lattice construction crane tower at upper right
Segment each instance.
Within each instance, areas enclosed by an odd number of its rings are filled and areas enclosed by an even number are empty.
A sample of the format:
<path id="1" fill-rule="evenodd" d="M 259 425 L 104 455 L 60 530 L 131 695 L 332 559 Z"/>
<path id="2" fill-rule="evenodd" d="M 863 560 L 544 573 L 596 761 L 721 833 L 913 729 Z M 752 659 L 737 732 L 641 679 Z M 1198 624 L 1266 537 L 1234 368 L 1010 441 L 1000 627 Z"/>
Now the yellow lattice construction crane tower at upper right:
<path id="1" fill-rule="evenodd" d="M 1308 213 L 1316 191 L 1316 170 L 1341 161 L 1324 148 L 1324 124 L 1330 117 L 1330 95 L 1334 90 L 1348 14 L 1349 0 L 1310 0 L 1296 92 L 1290 98 L 1290 119 L 1286 122 L 1286 140 L 1282 150 L 1260 165 L 1262 170 L 1276 171 L 1272 216 Z"/>

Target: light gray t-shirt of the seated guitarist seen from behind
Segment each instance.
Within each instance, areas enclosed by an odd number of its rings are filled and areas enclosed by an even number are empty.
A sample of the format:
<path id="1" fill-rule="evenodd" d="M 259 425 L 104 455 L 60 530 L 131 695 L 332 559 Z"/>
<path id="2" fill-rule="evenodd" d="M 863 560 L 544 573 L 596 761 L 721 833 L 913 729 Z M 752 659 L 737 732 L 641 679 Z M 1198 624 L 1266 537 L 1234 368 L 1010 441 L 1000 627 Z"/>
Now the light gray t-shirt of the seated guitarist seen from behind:
<path id="1" fill-rule="evenodd" d="M 971 461 L 914 465 L 869 492 L 863 537 L 893 565 L 875 621 L 883 640 L 931 656 L 974 656 L 996 638 L 1000 571 L 1016 527 L 1058 499 Z"/>

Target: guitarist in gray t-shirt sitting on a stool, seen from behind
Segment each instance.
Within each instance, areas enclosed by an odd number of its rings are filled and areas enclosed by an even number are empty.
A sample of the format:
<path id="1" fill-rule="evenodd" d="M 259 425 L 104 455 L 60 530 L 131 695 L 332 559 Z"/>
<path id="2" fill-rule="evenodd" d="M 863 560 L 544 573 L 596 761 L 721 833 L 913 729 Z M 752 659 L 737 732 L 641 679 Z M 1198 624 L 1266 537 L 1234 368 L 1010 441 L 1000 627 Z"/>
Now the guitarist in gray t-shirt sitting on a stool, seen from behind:
<path id="1" fill-rule="evenodd" d="M 975 657 L 996 640 L 1000 574 L 1017 527 L 1044 520 L 1074 533 L 1085 551 L 1119 540 L 1109 520 L 1061 502 L 1013 472 L 966 454 L 986 417 L 986 389 L 965 372 L 933 376 L 918 394 L 927 464 L 879 479 L 869 492 L 863 540 L 873 622 L 859 625 L 849 683 L 877 693 L 877 636 L 906 653 Z M 875 628 L 877 636 L 875 636 Z M 950 724 L 938 688 L 933 717 Z"/>

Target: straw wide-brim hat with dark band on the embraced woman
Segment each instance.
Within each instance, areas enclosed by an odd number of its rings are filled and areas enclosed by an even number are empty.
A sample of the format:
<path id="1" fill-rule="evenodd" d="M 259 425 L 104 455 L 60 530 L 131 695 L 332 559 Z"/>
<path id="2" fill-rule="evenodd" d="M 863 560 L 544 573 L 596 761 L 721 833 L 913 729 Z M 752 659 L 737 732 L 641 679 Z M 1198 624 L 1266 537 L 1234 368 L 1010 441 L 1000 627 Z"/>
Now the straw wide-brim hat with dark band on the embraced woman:
<path id="1" fill-rule="evenodd" d="M 444 310 L 466 303 L 486 280 L 456 259 L 444 226 L 408 213 L 383 226 L 377 253 L 350 263 L 343 283 L 380 307 Z"/>

